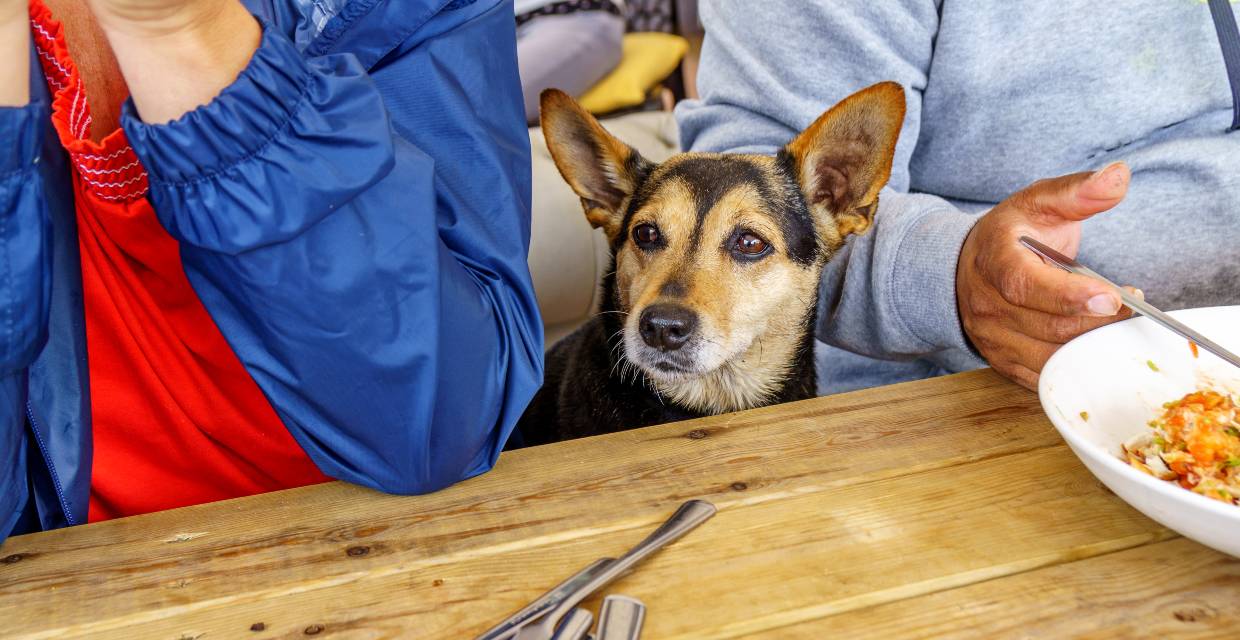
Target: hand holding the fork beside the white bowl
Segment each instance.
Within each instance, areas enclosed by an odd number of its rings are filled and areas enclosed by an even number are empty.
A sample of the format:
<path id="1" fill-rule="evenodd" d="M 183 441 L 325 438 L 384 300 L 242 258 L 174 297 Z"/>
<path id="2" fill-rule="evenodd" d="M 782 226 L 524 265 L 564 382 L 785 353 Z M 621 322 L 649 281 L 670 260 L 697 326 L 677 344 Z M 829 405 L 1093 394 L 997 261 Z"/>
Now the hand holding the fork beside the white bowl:
<path id="1" fill-rule="evenodd" d="M 1116 162 L 1042 180 L 977 221 L 956 265 L 956 300 L 965 334 L 996 371 L 1034 389 L 1060 345 L 1131 315 L 1112 288 L 1045 264 L 1018 242 L 1030 236 L 1075 257 L 1081 221 L 1120 203 L 1130 179 Z"/>

